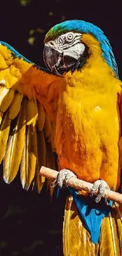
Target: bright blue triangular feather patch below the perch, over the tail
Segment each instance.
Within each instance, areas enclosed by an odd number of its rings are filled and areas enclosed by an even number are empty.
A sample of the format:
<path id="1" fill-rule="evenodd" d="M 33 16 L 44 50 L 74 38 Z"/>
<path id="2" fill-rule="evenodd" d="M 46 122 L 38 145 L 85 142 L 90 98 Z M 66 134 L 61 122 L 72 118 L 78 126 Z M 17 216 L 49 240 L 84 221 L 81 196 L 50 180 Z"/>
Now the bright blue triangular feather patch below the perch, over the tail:
<path id="1" fill-rule="evenodd" d="M 95 203 L 94 197 L 91 198 L 90 196 L 79 195 L 78 192 L 71 187 L 68 187 L 68 191 L 76 202 L 79 216 L 83 220 L 87 231 L 91 234 L 91 241 L 98 243 L 102 219 L 112 210 L 113 202 L 110 201 L 109 205 L 107 205 L 105 199 L 102 199 L 101 202 Z"/>

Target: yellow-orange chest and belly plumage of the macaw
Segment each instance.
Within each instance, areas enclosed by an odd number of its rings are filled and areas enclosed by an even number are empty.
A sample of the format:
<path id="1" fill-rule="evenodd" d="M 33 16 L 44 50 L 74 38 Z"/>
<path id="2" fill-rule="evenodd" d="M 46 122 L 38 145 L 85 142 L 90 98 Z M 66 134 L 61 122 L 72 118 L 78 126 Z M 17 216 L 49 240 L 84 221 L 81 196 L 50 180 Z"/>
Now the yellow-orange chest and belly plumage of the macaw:
<path id="1" fill-rule="evenodd" d="M 76 174 L 80 178 L 93 181 L 100 172 L 103 176 L 105 169 L 109 173 L 118 169 L 120 121 L 116 103 L 120 81 L 106 65 L 99 70 L 96 65 L 96 72 L 86 67 L 82 72 L 68 72 L 65 80 L 57 110 L 59 162 L 61 168 L 79 169 Z"/>

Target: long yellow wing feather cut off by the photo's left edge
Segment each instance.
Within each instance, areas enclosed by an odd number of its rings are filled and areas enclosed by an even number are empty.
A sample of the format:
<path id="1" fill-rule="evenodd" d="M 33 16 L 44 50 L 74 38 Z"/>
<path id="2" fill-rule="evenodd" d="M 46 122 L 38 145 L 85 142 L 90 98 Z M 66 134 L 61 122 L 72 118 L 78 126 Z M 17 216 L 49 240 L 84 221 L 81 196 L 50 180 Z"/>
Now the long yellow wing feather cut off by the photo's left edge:
<path id="1" fill-rule="evenodd" d="M 2 162 L 2 158 L 5 154 L 6 143 L 9 137 L 10 123 L 11 121 L 9 120 L 9 113 L 6 112 L 2 119 L 2 124 L 0 126 L 0 163 Z"/>

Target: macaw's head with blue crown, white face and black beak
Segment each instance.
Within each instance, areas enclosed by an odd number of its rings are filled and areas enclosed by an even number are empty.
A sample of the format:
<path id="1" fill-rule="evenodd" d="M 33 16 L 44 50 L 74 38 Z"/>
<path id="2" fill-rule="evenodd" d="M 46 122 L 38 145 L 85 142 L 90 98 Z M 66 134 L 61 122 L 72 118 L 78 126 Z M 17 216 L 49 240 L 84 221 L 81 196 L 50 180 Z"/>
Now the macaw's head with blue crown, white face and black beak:
<path id="1" fill-rule="evenodd" d="M 63 72 L 82 69 L 88 59 L 101 54 L 118 77 L 112 47 L 100 28 L 83 20 L 67 20 L 47 32 L 43 58 L 47 69 L 61 76 Z"/>

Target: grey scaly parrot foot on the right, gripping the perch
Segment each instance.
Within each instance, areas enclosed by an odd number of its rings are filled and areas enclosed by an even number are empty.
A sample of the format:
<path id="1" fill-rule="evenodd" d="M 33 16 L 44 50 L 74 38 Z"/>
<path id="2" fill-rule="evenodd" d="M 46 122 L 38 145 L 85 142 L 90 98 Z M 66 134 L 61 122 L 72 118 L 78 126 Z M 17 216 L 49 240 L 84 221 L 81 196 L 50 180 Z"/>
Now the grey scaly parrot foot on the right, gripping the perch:
<path id="1" fill-rule="evenodd" d="M 108 184 L 105 182 L 105 180 L 96 180 L 93 184 L 92 190 L 91 190 L 91 196 L 95 195 L 98 191 L 98 195 L 95 198 L 95 202 L 98 203 L 102 199 L 102 195 L 104 194 L 105 189 L 109 189 Z M 107 199 L 105 198 L 105 202 L 107 203 Z"/>

